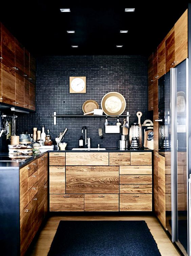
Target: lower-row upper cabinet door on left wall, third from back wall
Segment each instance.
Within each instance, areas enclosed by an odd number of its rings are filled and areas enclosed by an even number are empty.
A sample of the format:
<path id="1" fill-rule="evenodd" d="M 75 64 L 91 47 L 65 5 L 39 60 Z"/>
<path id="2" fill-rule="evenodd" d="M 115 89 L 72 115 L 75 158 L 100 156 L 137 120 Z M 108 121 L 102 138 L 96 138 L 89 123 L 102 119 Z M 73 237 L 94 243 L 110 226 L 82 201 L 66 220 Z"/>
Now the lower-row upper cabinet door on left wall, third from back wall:
<path id="1" fill-rule="evenodd" d="M 24 107 L 24 77 L 15 73 L 15 105 Z"/>

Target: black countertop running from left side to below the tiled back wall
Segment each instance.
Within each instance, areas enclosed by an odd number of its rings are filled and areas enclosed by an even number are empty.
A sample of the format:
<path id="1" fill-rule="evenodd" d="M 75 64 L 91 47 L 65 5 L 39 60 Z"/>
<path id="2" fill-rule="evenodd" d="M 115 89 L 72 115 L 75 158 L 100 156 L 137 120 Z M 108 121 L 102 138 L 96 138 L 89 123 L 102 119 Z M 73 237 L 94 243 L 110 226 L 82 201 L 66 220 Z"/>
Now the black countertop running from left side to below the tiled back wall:
<path id="1" fill-rule="evenodd" d="M 22 161 L 22 159 L 18 158 L 19 161 L 7 161 L 12 160 L 15 158 L 10 158 L 8 156 L 8 153 L 0 153 L 0 160 L 3 160 L 3 162 L 0 161 L 0 170 L 4 169 L 19 169 L 21 167 L 24 167 L 25 165 L 30 164 L 31 161 L 35 160 L 36 158 L 39 158 L 40 156 L 43 156 L 44 154 L 48 152 L 152 152 L 150 149 L 141 149 L 141 150 L 118 150 L 118 149 L 107 149 L 106 150 L 49 150 L 44 153 L 38 153 L 35 155 L 31 155 L 30 157 L 24 158 L 25 160 Z"/>

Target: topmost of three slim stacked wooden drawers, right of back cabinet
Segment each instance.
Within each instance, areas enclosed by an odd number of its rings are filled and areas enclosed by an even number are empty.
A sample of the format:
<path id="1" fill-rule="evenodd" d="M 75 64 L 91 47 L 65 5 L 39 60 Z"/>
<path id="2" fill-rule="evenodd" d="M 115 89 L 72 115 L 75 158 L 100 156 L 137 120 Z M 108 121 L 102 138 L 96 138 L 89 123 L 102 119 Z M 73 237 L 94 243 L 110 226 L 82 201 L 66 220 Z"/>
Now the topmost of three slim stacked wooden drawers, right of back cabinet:
<path id="1" fill-rule="evenodd" d="M 120 166 L 120 174 L 151 174 L 152 175 L 152 165 L 150 166 Z"/>

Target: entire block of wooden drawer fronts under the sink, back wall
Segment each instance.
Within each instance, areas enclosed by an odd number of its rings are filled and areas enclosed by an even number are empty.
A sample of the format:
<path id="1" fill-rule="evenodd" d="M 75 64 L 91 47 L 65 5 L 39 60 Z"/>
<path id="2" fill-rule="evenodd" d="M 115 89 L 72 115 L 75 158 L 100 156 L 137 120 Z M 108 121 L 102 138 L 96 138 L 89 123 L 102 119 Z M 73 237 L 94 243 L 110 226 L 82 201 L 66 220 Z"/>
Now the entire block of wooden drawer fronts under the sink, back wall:
<path id="1" fill-rule="evenodd" d="M 152 152 L 49 153 L 50 211 L 152 211 Z"/>

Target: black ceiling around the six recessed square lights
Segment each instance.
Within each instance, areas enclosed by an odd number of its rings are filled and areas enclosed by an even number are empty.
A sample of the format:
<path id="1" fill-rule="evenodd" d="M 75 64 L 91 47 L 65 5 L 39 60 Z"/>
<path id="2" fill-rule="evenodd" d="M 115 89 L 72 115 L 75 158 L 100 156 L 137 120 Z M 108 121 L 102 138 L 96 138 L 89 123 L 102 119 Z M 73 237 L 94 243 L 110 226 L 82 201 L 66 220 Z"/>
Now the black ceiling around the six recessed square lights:
<path id="1" fill-rule="evenodd" d="M 175 2 L 175 1 L 174 1 Z M 148 55 L 188 1 L 4 0 L 0 20 L 34 55 Z M 60 8 L 70 8 L 61 13 Z M 135 8 L 135 12 L 125 12 Z M 75 34 L 67 34 L 75 30 Z M 128 30 L 127 34 L 120 30 Z M 71 48 L 78 45 L 78 48 Z M 123 45 L 116 48 L 116 45 Z"/>

